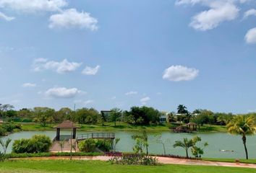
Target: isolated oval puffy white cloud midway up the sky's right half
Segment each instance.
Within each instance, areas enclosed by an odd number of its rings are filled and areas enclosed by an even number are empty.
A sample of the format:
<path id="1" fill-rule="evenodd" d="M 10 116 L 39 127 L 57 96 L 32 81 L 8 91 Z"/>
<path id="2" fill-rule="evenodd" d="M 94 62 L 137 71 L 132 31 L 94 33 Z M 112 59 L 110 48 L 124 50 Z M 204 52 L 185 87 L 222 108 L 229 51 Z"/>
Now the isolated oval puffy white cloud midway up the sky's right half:
<path id="1" fill-rule="evenodd" d="M 170 66 L 163 73 L 163 79 L 169 81 L 190 81 L 195 79 L 199 70 L 186 66 Z"/>

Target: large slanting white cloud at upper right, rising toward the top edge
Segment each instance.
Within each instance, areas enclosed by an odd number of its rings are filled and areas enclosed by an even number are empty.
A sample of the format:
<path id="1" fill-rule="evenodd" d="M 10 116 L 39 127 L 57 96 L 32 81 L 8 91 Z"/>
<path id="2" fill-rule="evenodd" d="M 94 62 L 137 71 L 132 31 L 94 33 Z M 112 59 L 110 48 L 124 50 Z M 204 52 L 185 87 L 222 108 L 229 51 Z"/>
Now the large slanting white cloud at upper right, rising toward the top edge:
<path id="1" fill-rule="evenodd" d="M 239 9 L 234 4 L 218 4 L 192 17 L 192 22 L 189 26 L 193 27 L 195 30 L 212 30 L 218 27 L 222 22 L 236 19 L 238 14 Z"/>

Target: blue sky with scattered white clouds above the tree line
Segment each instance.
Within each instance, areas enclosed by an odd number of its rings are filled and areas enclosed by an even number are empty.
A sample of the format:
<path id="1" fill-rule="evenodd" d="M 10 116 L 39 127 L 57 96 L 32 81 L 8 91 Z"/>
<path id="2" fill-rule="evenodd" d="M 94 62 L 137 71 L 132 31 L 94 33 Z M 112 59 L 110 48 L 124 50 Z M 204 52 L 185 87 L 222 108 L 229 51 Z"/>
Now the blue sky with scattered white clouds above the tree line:
<path id="1" fill-rule="evenodd" d="M 0 103 L 256 111 L 255 0 L 0 0 Z"/>

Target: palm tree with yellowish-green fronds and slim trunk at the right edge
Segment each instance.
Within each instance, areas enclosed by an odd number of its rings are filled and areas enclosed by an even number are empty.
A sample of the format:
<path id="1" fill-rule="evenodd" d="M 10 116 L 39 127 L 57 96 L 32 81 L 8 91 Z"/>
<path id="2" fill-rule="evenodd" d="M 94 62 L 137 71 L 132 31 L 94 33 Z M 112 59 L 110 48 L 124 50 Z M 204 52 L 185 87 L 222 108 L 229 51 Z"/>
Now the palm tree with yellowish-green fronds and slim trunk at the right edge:
<path id="1" fill-rule="evenodd" d="M 227 125 L 229 133 L 241 135 L 244 143 L 244 151 L 246 159 L 248 159 L 248 151 L 246 146 L 246 136 L 252 136 L 256 132 L 255 119 L 252 116 L 239 115 L 233 118 Z"/>

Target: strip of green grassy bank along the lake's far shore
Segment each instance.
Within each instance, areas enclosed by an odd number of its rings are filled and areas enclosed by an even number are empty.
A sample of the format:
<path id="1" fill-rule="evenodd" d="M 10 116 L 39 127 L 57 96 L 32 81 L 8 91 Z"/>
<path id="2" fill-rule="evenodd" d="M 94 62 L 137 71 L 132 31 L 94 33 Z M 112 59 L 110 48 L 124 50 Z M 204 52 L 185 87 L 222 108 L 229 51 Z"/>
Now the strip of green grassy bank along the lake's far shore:
<path id="1" fill-rule="evenodd" d="M 54 126 L 57 124 L 47 125 L 42 127 L 38 123 L 22 123 L 22 130 L 53 130 Z M 147 130 L 148 132 L 161 132 L 161 131 L 170 131 L 170 128 L 174 127 L 169 123 L 160 124 L 160 125 L 129 125 L 127 123 L 104 123 L 95 124 L 95 125 L 80 125 L 81 131 L 141 131 Z M 207 132 L 226 132 L 226 126 L 223 125 L 203 125 L 198 129 L 199 133 Z"/>

